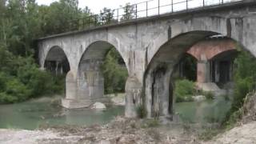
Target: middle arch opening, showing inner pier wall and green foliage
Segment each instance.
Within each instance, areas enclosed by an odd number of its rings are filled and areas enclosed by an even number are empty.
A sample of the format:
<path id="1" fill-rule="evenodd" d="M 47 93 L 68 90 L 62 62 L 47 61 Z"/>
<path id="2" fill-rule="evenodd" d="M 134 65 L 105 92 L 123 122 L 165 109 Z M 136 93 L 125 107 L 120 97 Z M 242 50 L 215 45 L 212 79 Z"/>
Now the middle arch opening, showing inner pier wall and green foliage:
<path id="1" fill-rule="evenodd" d="M 128 70 L 121 54 L 109 42 L 92 43 L 78 66 L 81 98 L 102 98 L 104 94 L 123 93 Z"/>

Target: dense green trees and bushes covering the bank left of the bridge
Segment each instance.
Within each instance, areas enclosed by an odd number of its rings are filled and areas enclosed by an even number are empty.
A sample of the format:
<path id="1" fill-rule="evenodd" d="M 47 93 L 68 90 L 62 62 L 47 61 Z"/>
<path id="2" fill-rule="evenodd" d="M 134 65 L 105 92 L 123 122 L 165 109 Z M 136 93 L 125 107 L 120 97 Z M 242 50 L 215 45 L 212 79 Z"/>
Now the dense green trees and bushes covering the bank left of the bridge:
<path id="1" fill-rule="evenodd" d="M 0 0 L 0 103 L 22 102 L 63 92 L 63 76 L 38 69 L 34 40 L 59 32 L 70 19 L 88 14 L 78 0 L 38 6 L 34 0 Z"/>

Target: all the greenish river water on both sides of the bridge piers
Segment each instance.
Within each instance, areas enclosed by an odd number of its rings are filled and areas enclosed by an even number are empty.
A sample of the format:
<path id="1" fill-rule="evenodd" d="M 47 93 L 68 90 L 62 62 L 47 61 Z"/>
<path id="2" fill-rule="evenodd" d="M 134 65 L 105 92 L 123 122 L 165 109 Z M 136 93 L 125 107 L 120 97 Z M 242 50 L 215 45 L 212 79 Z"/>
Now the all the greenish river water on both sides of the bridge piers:
<path id="1" fill-rule="evenodd" d="M 220 122 L 230 109 L 230 102 L 224 98 L 204 102 L 180 102 L 174 108 L 183 122 Z M 90 126 L 110 122 L 115 116 L 123 114 L 123 106 L 112 106 L 106 110 L 66 110 L 54 104 L 51 98 L 40 98 L 0 105 L 0 129 L 34 130 L 42 125 Z"/>

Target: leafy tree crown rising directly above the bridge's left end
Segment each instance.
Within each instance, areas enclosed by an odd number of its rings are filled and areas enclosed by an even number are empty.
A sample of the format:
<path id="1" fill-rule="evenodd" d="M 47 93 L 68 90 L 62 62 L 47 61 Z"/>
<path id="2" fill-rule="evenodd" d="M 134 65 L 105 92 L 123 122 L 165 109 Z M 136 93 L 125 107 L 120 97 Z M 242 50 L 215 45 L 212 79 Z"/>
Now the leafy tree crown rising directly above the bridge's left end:
<path id="1" fill-rule="evenodd" d="M 39 13 L 44 20 L 42 30 L 45 34 L 57 34 L 66 29 L 78 29 L 78 18 L 85 16 L 83 12 L 88 11 L 78 8 L 78 0 L 60 0 L 50 6 L 41 6 Z"/>

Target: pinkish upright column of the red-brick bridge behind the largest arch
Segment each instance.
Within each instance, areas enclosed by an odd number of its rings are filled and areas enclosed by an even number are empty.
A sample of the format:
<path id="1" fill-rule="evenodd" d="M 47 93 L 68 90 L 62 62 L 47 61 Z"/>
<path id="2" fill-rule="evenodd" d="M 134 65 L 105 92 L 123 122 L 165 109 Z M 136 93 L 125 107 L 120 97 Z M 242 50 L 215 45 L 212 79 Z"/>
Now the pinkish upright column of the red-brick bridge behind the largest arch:
<path id="1" fill-rule="evenodd" d="M 210 82 L 210 62 L 207 60 L 198 60 L 197 82 Z"/>

